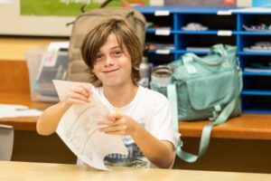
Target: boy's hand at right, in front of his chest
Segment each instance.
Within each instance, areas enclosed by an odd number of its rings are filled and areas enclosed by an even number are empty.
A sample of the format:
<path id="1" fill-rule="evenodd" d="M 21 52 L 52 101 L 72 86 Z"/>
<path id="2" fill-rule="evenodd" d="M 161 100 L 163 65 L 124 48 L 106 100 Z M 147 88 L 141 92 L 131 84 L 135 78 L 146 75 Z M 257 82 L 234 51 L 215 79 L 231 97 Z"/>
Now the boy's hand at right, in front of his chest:
<path id="1" fill-rule="evenodd" d="M 131 117 L 120 112 L 110 113 L 107 120 L 98 121 L 100 131 L 111 135 L 132 135 L 137 123 Z"/>

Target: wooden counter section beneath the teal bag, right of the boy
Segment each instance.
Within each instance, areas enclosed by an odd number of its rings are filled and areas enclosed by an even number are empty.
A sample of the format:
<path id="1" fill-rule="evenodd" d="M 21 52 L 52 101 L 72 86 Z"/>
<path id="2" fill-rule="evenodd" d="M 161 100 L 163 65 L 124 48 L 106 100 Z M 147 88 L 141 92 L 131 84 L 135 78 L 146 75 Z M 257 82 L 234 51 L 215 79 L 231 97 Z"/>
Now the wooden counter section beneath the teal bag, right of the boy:
<path id="1" fill-rule="evenodd" d="M 182 137 L 199 138 L 210 121 L 180 122 Z M 242 114 L 212 129 L 211 138 L 244 138 L 271 140 L 271 115 Z"/>

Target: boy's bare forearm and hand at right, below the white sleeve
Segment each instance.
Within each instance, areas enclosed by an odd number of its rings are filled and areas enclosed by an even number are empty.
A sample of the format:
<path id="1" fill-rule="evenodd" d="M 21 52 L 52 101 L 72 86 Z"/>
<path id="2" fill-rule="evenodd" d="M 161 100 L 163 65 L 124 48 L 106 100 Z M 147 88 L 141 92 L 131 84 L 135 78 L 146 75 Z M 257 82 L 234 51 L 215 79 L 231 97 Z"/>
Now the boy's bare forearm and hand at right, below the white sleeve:
<path id="1" fill-rule="evenodd" d="M 174 159 L 173 143 L 159 140 L 131 117 L 111 113 L 107 120 L 98 121 L 100 131 L 112 135 L 130 135 L 138 148 L 155 166 L 168 168 Z"/>

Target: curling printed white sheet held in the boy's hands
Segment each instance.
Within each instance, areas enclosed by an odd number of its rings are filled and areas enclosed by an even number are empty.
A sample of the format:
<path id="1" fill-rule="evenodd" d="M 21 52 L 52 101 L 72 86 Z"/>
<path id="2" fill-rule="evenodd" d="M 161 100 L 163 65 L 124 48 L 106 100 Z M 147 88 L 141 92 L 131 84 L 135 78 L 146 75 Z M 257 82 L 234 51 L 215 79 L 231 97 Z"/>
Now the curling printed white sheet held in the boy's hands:
<path id="1" fill-rule="evenodd" d="M 71 86 L 76 82 L 53 81 L 60 100 L 66 97 Z M 108 114 L 107 109 L 98 99 L 98 93 L 93 86 L 91 101 L 84 105 L 72 105 L 61 118 L 56 130 L 70 150 L 91 167 L 107 170 L 104 157 L 108 154 L 119 153 L 127 155 L 127 149 L 119 136 L 108 135 L 98 130 L 96 122 L 104 120 Z"/>

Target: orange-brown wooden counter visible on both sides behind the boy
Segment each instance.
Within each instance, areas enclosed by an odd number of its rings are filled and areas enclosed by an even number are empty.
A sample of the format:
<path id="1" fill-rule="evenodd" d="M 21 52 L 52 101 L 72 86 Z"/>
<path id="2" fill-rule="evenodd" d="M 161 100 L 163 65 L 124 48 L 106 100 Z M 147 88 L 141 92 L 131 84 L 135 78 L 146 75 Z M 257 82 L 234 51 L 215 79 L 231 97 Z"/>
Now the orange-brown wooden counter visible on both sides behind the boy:
<path id="1" fill-rule="evenodd" d="M 33 102 L 23 94 L 1 93 L 0 102 L 23 104 L 33 109 L 44 110 L 51 103 Z M 36 130 L 37 117 L 0 119 L 0 124 L 12 125 L 17 130 Z M 201 129 L 210 121 L 180 122 L 183 137 L 199 138 Z M 226 123 L 212 129 L 212 138 L 246 138 L 271 140 L 271 115 L 243 114 L 229 119 Z"/>

